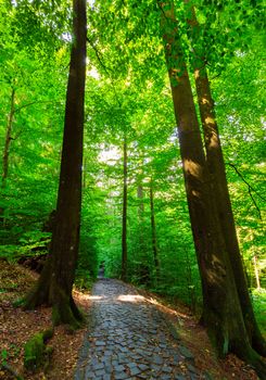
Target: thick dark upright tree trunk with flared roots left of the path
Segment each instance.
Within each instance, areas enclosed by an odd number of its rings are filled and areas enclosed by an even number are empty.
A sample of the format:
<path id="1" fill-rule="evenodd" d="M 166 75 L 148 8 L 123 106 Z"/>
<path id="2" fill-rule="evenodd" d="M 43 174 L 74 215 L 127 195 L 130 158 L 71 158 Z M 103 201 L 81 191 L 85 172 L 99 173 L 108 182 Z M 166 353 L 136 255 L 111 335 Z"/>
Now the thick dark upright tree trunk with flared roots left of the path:
<path id="1" fill-rule="evenodd" d="M 37 282 L 25 301 L 33 308 L 42 303 L 53 306 L 53 321 L 78 326 L 83 316 L 77 309 L 72 288 L 78 256 L 84 97 L 86 78 L 86 1 L 73 1 L 74 42 L 66 92 L 63 150 L 51 252 Z"/>

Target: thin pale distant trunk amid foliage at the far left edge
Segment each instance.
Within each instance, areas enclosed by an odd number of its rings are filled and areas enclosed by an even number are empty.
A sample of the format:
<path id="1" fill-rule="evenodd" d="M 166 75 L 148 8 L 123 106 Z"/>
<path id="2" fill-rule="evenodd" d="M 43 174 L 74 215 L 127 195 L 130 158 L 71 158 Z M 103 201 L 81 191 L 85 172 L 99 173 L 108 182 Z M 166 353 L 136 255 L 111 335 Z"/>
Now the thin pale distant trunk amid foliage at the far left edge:
<path id="1" fill-rule="evenodd" d="M 12 127 L 15 114 L 15 89 L 12 88 L 11 91 L 11 101 L 10 101 L 10 113 L 8 116 L 7 131 L 5 131 L 5 140 L 3 148 L 3 159 L 2 159 L 2 188 L 5 187 L 7 178 L 9 174 L 9 152 L 10 152 L 10 142 L 12 140 Z"/>

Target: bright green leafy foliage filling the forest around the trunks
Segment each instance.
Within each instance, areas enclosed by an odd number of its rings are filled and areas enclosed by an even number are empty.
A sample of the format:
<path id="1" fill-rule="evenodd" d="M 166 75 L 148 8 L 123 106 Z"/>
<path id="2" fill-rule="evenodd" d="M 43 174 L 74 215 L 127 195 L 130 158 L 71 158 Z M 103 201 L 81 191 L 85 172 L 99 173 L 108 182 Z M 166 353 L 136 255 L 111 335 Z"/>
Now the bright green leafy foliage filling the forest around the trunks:
<path id="1" fill-rule="evenodd" d="M 255 262 L 265 288 L 265 50 L 262 1 L 175 1 L 188 60 L 207 64 L 227 178 L 251 288 Z M 200 29 L 192 45 L 188 18 Z M 255 7 L 256 5 L 256 7 Z M 176 122 L 154 1 L 89 5 L 83 212 L 76 286 L 90 288 L 99 264 L 121 276 L 123 139 L 128 141 L 128 280 L 195 309 L 201 284 L 194 255 Z M 68 1 L 0 3 L 0 151 L 11 94 L 9 173 L 0 189 L 0 256 L 38 255 L 55 208 L 69 61 Z M 194 54 L 193 54 L 194 56 Z M 191 74 L 191 73 L 190 73 Z M 176 85 L 176 84 L 174 84 Z M 154 186 L 156 278 L 149 183 Z M 142 197 L 138 194 L 142 188 Z M 264 293 L 254 293 L 259 317 Z"/>

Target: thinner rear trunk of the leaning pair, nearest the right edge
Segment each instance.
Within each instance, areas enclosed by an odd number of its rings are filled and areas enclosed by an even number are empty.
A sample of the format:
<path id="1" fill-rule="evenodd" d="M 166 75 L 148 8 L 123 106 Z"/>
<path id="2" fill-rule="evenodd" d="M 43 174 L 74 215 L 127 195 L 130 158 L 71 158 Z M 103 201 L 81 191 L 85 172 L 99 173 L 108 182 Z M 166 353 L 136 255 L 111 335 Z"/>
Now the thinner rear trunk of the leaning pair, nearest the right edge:
<path id="1" fill-rule="evenodd" d="M 189 0 L 186 0 L 188 2 Z M 226 242 L 227 252 L 231 262 L 235 281 L 238 289 L 241 309 L 252 346 L 259 354 L 266 356 L 266 343 L 263 339 L 255 320 L 246 277 L 243 268 L 241 253 L 239 250 L 235 219 L 231 208 L 230 195 L 227 186 L 225 162 L 219 139 L 218 126 L 215 117 L 215 106 L 212 99 L 211 86 L 204 62 L 204 51 L 199 47 L 200 25 L 195 18 L 194 9 L 191 8 L 190 36 L 192 43 L 198 47 L 194 50 L 192 60 L 198 102 L 200 107 L 201 123 L 204 132 L 204 142 L 207 157 L 207 165 L 213 177 L 214 193 L 218 217 Z"/>

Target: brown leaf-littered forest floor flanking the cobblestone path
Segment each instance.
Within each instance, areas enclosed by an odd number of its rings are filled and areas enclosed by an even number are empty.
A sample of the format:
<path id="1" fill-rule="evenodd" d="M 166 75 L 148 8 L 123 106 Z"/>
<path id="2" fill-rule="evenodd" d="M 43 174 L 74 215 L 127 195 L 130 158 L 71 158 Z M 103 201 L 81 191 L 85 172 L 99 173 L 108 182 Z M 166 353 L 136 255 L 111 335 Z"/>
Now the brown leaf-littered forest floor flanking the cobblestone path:
<path id="1" fill-rule="evenodd" d="M 51 327 L 50 308 L 24 312 L 12 305 L 13 301 L 28 291 L 37 277 L 38 275 L 22 266 L 0 261 L 0 360 L 11 366 L 25 380 L 71 380 L 74 378 L 87 328 L 73 332 L 67 327 L 56 327 L 54 337 L 49 341 L 49 345 L 53 346 L 53 354 L 46 372 L 39 370 L 33 373 L 23 367 L 25 342 L 36 332 Z M 136 288 L 131 289 L 137 291 Z M 199 326 L 187 307 L 168 305 L 165 300 L 149 292 L 141 291 L 140 294 L 144 303 L 152 304 L 164 315 L 165 320 L 169 322 L 169 330 L 175 327 L 182 345 L 189 349 L 194 357 L 193 366 L 198 373 L 208 373 L 208 379 L 213 380 L 257 379 L 255 372 L 233 355 L 229 355 L 225 360 L 215 357 L 205 330 Z M 78 306 L 89 313 L 94 296 L 78 290 L 74 291 L 74 296 Z M 11 380 L 14 376 L 0 366 L 0 379 Z"/>

